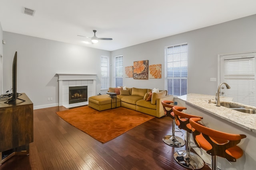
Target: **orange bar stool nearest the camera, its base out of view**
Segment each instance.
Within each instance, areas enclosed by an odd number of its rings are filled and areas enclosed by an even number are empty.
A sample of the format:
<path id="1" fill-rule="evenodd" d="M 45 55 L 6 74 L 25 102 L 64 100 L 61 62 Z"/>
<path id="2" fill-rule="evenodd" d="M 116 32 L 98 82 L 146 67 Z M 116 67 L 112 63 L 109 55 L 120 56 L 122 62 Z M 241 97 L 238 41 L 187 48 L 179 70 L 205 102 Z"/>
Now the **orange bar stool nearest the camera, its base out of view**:
<path id="1" fill-rule="evenodd" d="M 212 156 L 212 170 L 217 170 L 218 157 L 226 158 L 229 162 L 243 155 L 243 150 L 236 146 L 246 135 L 230 134 L 205 127 L 198 123 L 200 118 L 191 118 L 192 134 L 196 145 L 206 150 Z"/>

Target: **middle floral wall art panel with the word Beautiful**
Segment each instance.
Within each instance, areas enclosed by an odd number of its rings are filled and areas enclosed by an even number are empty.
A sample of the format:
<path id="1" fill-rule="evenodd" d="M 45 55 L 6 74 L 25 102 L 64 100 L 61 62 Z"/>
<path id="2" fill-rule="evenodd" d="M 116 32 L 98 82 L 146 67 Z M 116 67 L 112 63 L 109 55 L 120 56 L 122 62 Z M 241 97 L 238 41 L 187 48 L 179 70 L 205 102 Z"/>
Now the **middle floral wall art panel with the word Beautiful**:
<path id="1" fill-rule="evenodd" d="M 133 62 L 133 79 L 148 80 L 148 60 Z"/>

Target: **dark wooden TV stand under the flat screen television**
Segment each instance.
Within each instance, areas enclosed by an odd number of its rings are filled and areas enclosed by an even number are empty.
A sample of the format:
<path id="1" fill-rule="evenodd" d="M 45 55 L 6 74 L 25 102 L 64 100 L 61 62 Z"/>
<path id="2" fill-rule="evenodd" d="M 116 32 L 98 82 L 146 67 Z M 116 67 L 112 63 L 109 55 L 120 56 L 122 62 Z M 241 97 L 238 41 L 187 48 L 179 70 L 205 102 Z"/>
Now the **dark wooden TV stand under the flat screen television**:
<path id="1" fill-rule="evenodd" d="M 15 154 L 29 154 L 34 141 L 33 103 L 22 93 L 20 99 L 0 101 L 0 165 Z"/>

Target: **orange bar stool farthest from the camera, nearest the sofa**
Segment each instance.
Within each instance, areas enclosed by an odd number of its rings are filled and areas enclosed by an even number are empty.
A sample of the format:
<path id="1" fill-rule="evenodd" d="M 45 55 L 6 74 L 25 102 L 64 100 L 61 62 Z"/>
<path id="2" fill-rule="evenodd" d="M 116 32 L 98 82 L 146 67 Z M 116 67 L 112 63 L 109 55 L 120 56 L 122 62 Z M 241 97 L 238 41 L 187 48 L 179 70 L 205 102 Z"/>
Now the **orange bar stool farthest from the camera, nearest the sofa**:
<path id="1" fill-rule="evenodd" d="M 164 115 L 171 117 L 173 120 L 172 121 L 172 135 L 166 135 L 165 137 L 163 137 L 163 141 L 164 141 L 164 143 L 166 143 L 167 145 L 170 145 L 172 147 L 183 147 L 185 145 L 185 141 L 183 139 L 181 139 L 180 137 L 175 136 L 175 132 L 181 132 L 182 133 L 181 136 L 183 136 L 183 132 L 175 131 L 175 117 L 174 117 L 174 113 L 172 111 L 173 105 L 171 105 L 171 103 L 173 103 L 173 101 L 163 100 L 161 103 L 164 108 Z"/>

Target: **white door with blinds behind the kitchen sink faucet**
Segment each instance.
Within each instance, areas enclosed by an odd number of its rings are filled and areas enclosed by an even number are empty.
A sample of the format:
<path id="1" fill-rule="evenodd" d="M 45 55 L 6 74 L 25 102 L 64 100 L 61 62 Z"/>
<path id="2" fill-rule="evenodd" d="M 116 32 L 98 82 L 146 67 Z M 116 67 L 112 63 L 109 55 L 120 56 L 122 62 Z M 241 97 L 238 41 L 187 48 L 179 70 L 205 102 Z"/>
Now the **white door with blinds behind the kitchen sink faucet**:
<path id="1" fill-rule="evenodd" d="M 219 55 L 218 82 L 223 85 L 220 96 L 232 97 L 234 102 L 256 106 L 255 104 L 255 52 Z"/>

